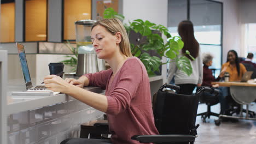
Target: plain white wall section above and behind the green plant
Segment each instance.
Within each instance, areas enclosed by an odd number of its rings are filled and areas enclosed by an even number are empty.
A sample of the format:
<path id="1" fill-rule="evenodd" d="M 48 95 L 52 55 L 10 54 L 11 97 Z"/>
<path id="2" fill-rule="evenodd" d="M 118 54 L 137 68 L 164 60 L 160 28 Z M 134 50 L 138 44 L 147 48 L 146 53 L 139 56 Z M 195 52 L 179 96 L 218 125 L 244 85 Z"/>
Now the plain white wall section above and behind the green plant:
<path id="1" fill-rule="evenodd" d="M 161 0 L 124 0 L 123 1 L 123 15 L 125 16 L 125 23 L 129 21 L 142 19 L 156 23 L 156 25 L 163 25 L 167 27 L 168 1 Z M 165 40 L 166 38 L 163 37 Z M 166 58 L 162 58 L 166 62 Z M 162 76 L 166 77 L 166 64 L 162 65 Z"/>

